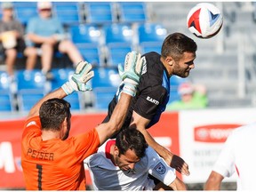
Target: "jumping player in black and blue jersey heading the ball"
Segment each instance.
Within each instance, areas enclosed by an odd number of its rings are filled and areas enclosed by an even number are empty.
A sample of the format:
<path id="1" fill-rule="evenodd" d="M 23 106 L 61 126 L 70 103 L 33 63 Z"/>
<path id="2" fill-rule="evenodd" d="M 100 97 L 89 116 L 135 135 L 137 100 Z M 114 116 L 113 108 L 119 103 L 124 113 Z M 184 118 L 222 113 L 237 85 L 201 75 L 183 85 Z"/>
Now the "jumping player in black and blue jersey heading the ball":
<path id="1" fill-rule="evenodd" d="M 132 99 L 132 106 L 122 127 L 136 127 L 144 135 L 148 145 L 154 148 L 167 164 L 185 175 L 189 175 L 188 164 L 180 156 L 172 154 L 158 144 L 147 129 L 159 121 L 165 110 L 170 95 L 170 78 L 188 77 L 190 70 L 195 68 L 196 50 L 197 45 L 193 39 L 180 33 L 173 33 L 164 39 L 161 54 L 148 52 L 142 55 L 144 65 L 138 92 Z M 122 84 L 119 90 L 122 90 Z M 119 92 L 116 92 L 114 99 L 109 103 L 108 116 L 103 122 L 108 122 L 112 115 L 118 102 L 118 94 Z M 113 136 L 115 137 L 116 135 Z"/>

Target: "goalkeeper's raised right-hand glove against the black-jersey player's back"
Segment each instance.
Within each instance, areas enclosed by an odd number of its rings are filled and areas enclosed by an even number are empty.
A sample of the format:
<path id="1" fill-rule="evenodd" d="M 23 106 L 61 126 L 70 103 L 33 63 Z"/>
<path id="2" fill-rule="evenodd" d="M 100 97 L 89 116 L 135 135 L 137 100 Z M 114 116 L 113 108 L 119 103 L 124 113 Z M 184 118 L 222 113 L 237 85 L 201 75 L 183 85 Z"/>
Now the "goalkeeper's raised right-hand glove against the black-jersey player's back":
<path id="1" fill-rule="evenodd" d="M 142 67 L 145 59 L 140 59 L 140 52 L 128 52 L 124 60 L 124 68 L 118 65 L 118 72 L 123 80 L 122 92 L 132 95 L 136 94 L 137 86 L 140 82 Z"/>

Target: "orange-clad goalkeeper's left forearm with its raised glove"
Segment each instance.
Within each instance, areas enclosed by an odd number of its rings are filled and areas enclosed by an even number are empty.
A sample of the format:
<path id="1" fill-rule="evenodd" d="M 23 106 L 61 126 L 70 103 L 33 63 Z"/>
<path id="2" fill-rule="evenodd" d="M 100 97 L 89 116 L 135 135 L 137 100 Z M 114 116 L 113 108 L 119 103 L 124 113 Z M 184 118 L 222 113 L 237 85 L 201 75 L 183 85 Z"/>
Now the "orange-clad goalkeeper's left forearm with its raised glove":
<path id="1" fill-rule="evenodd" d="M 36 105 L 30 109 L 28 118 L 39 115 L 39 108 L 45 100 L 52 98 L 63 99 L 75 91 L 91 91 L 92 88 L 86 84 L 92 78 L 92 76 L 94 76 L 94 72 L 91 69 L 92 65 L 87 61 L 79 62 L 76 66 L 75 73 L 71 76 L 68 82 L 63 84 L 59 89 L 45 95 L 42 100 L 39 100 Z"/>

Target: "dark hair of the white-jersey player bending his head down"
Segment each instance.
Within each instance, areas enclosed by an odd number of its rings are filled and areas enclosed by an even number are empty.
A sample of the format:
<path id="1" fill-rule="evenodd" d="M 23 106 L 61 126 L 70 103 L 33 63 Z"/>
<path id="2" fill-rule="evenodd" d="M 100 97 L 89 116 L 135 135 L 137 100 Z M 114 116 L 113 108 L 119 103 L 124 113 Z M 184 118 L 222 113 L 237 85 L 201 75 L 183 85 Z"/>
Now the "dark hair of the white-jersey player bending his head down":
<path id="1" fill-rule="evenodd" d="M 128 149 L 132 149 L 136 156 L 142 158 L 145 156 L 148 143 L 143 134 L 136 128 L 126 128 L 117 134 L 116 147 L 119 149 L 119 156 L 124 155 Z"/>

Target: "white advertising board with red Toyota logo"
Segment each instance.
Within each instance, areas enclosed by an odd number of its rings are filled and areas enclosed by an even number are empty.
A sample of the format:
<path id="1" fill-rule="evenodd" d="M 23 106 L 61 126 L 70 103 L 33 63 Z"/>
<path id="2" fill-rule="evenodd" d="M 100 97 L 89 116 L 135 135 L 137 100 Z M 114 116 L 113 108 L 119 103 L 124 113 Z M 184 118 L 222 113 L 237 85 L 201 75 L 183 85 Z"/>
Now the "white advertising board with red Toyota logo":
<path id="1" fill-rule="evenodd" d="M 239 125 L 255 122 L 255 115 L 256 109 L 252 108 L 180 111 L 180 156 L 190 171 L 182 179 L 187 183 L 204 183 L 228 134 Z M 236 175 L 224 181 L 236 181 Z"/>

